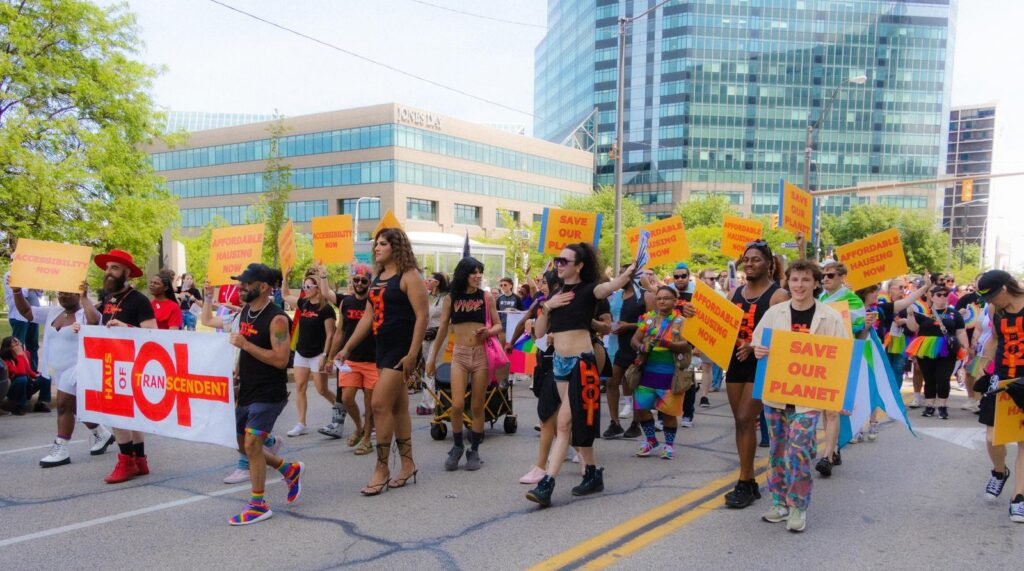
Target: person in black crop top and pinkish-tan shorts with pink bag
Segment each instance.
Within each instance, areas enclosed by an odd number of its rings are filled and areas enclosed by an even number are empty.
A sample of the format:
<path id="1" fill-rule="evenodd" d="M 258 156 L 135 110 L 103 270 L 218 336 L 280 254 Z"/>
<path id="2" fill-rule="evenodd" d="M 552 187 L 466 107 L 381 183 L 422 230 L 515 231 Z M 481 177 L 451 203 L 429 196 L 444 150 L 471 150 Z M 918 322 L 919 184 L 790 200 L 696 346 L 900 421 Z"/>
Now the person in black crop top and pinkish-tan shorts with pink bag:
<path id="1" fill-rule="evenodd" d="M 449 323 L 455 331 L 452 349 L 452 437 L 455 444 L 444 460 L 444 470 L 459 468 L 462 454 L 466 454 L 466 470 L 479 470 L 479 447 L 483 441 L 484 399 L 487 391 L 487 354 L 484 342 L 502 334 L 502 321 L 495 299 L 481 290 L 483 264 L 475 258 L 463 258 L 452 272 L 452 289 L 441 306 L 437 339 L 446 340 Z M 489 322 L 489 327 L 487 326 Z M 437 358 L 444 353 L 444 343 L 434 343 L 427 356 L 427 376 L 433 377 Z M 470 449 L 462 439 L 463 408 L 466 388 L 472 383 L 470 409 L 473 412 L 472 431 L 469 433 Z"/>

